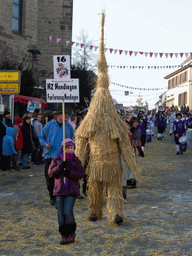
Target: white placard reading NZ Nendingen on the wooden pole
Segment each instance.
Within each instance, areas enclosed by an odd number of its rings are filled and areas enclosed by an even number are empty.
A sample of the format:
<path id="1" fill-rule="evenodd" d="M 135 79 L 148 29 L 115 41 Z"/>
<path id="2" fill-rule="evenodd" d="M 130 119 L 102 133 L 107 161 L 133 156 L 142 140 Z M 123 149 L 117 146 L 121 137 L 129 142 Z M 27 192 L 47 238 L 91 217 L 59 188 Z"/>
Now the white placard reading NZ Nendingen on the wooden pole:
<path id="1" fill-rule="evenodd" d="M 79 79 L 46 79 L 48 103 L 79 102 Z"/>

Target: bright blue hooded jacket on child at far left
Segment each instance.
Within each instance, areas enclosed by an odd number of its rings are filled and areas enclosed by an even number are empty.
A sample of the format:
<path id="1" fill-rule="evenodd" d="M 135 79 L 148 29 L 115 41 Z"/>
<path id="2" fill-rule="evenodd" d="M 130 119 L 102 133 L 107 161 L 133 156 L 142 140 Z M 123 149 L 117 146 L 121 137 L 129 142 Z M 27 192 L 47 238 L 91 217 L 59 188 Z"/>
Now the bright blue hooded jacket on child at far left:
<path id="1" fill-rule="evenodd" d="M 2 154 L 8 156 L 15 152 L 14 128 L 8 127 L 6 135 L 2 138 Z"/>

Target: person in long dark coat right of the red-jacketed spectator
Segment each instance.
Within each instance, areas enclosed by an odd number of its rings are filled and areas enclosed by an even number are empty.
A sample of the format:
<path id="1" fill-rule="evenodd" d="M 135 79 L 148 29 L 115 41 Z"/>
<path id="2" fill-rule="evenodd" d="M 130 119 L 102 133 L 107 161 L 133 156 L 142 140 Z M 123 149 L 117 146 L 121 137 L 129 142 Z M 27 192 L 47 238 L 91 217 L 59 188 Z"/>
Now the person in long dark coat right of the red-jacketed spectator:
<path id="1" fill-rule="evenodd" d="M 23 135 L 22 168 L 29 169 L 31 167 L 28 166 L 28 158 L 33 151 L 33 148 L 32 148 L 33 142 L 32 142 L 32 126 L 31 126 L 30 118 L 28 116 L 26 116 L 23 119 L 22 135 Z"/>

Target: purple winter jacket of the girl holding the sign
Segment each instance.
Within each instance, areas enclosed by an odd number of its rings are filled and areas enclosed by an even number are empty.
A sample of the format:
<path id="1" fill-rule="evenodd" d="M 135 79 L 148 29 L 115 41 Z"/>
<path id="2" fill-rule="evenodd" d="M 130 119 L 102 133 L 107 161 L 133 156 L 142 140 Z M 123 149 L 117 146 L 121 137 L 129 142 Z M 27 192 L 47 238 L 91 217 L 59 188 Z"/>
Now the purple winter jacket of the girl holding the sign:
<path id="1" fill-rule="evenodd" d="M 68 187 L 63 188 L 64 177 L 61 175 L 59 165 L 61 164 L 60 155 L 56 155 L 51 161 L 51 165 L 48 168 L 48 175 L 50 178 L 55 177 L 55 186 L 53 195 L 74 195 L 78 196 L 79 192 L 79 181 L 84 178 L 84 168 L 81 165 L 81 161 L 74 155 L 71 161 L 68 162 L 67 170 L 68 175 Z"/>

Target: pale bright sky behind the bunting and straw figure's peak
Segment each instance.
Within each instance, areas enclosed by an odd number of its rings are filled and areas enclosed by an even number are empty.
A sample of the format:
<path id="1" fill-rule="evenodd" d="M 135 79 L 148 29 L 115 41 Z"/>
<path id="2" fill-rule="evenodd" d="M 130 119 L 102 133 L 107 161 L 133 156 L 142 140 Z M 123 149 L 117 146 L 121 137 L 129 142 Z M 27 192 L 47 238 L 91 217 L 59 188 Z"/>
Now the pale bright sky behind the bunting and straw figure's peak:
<path id="1" fill-rule="evenodd" d="M 101 10 L 105 8 L 104 43 L 106 48 L 135 52 L 192 52 L 192 5 L 190 0 L 74 0 L 73 37 L 82 28 L 88 32 L 88 39 L 98 46 L 101 32 Z M 73 46 L 74 47 L 74 46 Z M 93 50 L 92 50 L 93 51 Z M 180 65 L 186 59 L 157 58 L 149 55 L 134 54 L 127 56 L 124 52 L 105 53 L 108 65 L 116 66 L 172 66 Z M 166 88 L 164 76 L 176 68 L 165 69 L 130 69 L 109 68 L 111 82 L 134 88 Z M 110 85 L 111 95 L 118 102 L 135 101 L 137 97 L 124 96 L 127 88 Z M 119 91 L 112 91 L 119 90 Z M 130 91 L 130 90 L 129 90 Z M 164 92 L 165 90 L 161 90 Z M 134 90 L 134 96 L 139 90 Z M 158 100 L 159 91 L 141 91 L 144 100 L 152 108 Z M 122 96 L 123 95 L 123 96 Z M 155 98 L 155 99 L 153 99 Z"/>

